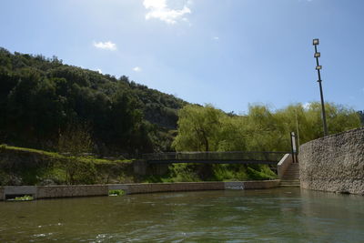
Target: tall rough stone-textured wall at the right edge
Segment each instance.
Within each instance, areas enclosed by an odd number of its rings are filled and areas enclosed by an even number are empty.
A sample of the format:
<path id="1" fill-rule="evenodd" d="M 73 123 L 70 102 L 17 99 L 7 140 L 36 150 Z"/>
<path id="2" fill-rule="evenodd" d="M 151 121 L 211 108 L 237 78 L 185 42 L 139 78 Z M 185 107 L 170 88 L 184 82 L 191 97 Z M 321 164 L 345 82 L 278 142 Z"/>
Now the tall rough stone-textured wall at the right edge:
<path id="1" fill-rule="evenodd" d="M 364 195 L 364 127 L 299 147 L 300 186 Z"/>

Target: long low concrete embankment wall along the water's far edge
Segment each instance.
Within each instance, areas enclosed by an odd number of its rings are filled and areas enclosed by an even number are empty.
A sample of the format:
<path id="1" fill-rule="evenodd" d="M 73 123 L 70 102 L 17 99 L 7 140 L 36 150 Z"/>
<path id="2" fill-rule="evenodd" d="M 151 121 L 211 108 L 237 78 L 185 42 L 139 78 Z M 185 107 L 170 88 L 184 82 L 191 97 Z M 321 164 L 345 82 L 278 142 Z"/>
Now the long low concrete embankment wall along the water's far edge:
<path id="1" fill-rule="evenodd" d="M 0 187 L 0 200 L 31 195 L 36 199 L 56 197 L 107 196 L 109 190 L 122 189 L 126 194 L 225 189 L 267 189 L 279 186 L 279 180 L 234 182 L 135 183 L 109 185 L 6 186 Z"/>

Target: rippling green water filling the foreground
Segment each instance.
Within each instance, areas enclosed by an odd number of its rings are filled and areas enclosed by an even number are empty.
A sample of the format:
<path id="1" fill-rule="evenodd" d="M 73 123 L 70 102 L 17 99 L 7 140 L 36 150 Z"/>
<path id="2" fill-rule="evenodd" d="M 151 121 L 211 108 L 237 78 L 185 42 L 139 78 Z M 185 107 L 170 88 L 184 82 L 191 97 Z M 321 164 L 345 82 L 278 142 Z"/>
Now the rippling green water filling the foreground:
<path id="1" fill-rule="evenodd" d="M 0 242 L 364 242 L 364 197 L 299 188 L 0 203 Z"/>

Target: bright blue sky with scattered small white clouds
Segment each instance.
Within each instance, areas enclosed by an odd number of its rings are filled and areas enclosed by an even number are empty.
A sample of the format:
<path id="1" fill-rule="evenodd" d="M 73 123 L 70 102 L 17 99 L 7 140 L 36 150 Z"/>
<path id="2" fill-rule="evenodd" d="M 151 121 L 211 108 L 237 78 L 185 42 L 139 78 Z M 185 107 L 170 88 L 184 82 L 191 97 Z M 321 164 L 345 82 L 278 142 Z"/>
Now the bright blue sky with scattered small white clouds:
<path id="1" fill-rule="evenodd" d="M 0 46 L 128 76 L 244 114 L 319 101 L 364 110 L 362 0 L 2 0 Z"/>

